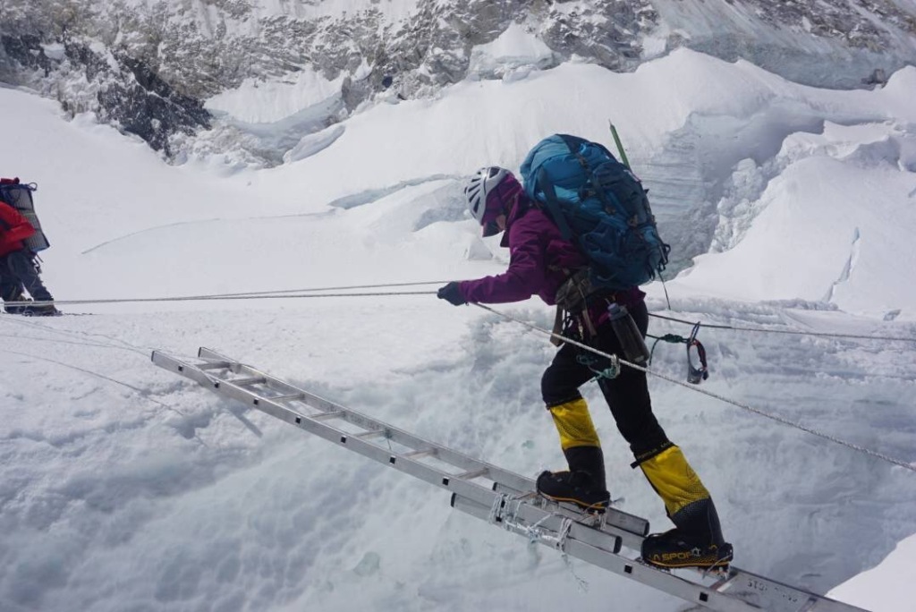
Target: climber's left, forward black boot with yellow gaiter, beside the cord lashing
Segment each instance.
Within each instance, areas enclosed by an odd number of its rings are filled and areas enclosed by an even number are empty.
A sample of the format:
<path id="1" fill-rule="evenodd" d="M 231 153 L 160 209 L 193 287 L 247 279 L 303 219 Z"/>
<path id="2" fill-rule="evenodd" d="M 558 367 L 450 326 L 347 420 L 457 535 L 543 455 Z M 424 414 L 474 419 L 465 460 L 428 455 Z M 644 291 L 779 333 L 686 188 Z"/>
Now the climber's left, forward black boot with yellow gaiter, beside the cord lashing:
<path id="1" fill-rule="evenodd" d="M 605 454 L 584 399 L 549 407 L 560 433 L 568 471 L 543 472 L 538 492 L 553 501 L 572 502 L 590 512 L 602 513 L 610 501 L 605 484 Z"/>

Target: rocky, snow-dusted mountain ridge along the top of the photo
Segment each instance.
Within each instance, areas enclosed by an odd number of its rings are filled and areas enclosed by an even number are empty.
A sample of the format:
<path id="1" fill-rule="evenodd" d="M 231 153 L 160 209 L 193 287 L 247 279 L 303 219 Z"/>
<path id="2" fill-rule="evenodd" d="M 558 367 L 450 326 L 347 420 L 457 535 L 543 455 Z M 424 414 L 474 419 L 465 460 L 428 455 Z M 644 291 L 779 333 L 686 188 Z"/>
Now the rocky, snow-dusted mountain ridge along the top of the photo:
<path id="1" fill-rule="evenodd" d="M 68 6 L 5 3 L 0 82 L 31 86 L 71 114 L 94 112 L 177 159 L 194 148 L 192 135 L 214 126 L 222 135 L 207 150 L 235 147 L 249 160 L 282 160 L 277 143 L 202 108 L 221 108 L 239 88 L 267 93 L 292 86 L 303 93 L 298 105 L 268 102 L 255 116 L 236 117 L 245 123 L 282 119 L 334 97 L 339 104 L 325 104 L 322 128 L 369 100 L 429 97 L 468 77 L 517 78 L 573 59 L 632 71 L 688 47 L 750 60 L 796 82 L 844 88 L 883 81 L 916 61 L 916 9 L 892 0 L 70 0 Z M 316 126 L 297 129 L 303 137 Z"/>

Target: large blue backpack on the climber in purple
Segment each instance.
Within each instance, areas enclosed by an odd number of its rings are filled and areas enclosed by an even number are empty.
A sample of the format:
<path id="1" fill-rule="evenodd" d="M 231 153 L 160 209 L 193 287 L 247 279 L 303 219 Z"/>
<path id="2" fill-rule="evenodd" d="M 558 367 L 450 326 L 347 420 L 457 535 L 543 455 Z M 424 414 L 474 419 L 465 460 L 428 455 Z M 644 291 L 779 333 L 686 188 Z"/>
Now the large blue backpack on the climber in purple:
<path id="1" fill-rule="evenodd" d="M 632 172 L 602 145 L 555 134 L 521 165 L 525 191 L 589 261 L 594 290 L 625 290 L 668 263 L 649 198 Z"/>

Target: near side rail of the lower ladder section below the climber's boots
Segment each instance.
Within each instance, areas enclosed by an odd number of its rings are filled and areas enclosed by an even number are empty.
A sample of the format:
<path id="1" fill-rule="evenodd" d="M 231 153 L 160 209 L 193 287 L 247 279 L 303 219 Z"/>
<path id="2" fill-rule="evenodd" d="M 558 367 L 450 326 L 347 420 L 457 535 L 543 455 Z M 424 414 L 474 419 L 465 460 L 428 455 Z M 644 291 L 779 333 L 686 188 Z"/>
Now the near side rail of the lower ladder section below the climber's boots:
<path id="1" fill-rule="evenodd" d="M 461 510 L 478 519 L 488 520 L 490 509 L 474 503 L 473 500 L 456 496 L 453 499 L 453 508 Z M 524 532 L 516 531 L 517 533 Z M 540 543 L 553 546 L 551 541 L 539 540 Z M 567 541 L 563 552 L 586 563 L 592 563 L 605 570 L 636 580 L 644 585 L 664 591 L 669 595 L 680 597 L 684 601 L 708 607 L 717 612 L 760 612 L 760 608 L 734 597 L 722 596 L 714 591 L 696 585 L 674 574 L 649 567 L 628 559 L 624 555 L 598 549 L 590 546 L 587 541 Z"/>

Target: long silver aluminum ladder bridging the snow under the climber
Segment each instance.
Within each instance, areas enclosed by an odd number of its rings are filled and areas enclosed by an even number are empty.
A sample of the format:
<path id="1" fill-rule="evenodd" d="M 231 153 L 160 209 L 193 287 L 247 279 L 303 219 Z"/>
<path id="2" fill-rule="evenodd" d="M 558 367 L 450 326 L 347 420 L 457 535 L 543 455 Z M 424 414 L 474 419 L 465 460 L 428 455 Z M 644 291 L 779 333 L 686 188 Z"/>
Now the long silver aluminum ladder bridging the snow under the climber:
<path id="1" fill-rule="evenodd" d="M 532 479 L 432 443 L 349 410 L 208 348 L 189 363 L 161 351 L 157 366 L 217 395 L 295 425 L 329 442 L 452 493 L 452 507 L 572 557 L 721 612 L 866 612 L 732 565 L 701 574 L 660 570 L 638 560 L 649 521 L 618 508 L 583 514 L 535 493 Z M 627 552 L 624 552 L 627 549 Z"/>

